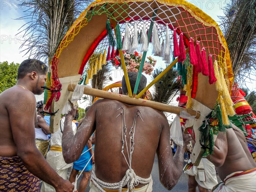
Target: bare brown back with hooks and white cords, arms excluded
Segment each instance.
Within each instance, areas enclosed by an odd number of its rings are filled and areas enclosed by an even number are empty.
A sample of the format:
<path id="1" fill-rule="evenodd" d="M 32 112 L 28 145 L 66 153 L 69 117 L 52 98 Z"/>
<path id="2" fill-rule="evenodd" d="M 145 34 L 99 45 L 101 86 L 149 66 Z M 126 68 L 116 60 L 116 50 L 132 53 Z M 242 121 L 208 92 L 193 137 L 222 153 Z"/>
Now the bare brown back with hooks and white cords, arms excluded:
<path id="1" fill-rule="evenodd" d="M 135 114 L 140 116 L 137 116 L 136 126 L 133 126 Z M 99 101 L 96 104 L 95 119 L 96 175 L 99 179 L 109 183 L 119 182 L 128 169 L 121 153 L 123 120 L 127 129 L 128 149 L 130 148 L 129 132 L 133 127 L 135 143 L 131 164 L 135 173 L 143 178 L 148 178 L 151 174 L 162 128 L 164 125 L 168 125 L 163 113 L 152 108 L 127 105 L 108 99 Z M 124 144 L 124 153 L 128 159 L 126 144 Z M 102 157 L 108 158 L 102 159 Z"/>

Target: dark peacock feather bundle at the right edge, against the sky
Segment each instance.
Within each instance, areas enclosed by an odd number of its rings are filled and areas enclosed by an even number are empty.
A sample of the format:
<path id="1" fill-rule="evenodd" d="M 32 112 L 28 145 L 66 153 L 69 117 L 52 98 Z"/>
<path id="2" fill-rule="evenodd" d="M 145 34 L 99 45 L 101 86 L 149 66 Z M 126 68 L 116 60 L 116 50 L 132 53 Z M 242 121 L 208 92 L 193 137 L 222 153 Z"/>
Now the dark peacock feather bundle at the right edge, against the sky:
<path id="1" fill-rule="evenodd" d="M 235 81 L 242 84 L 256 72 L 256 1 L 231 0 L 221 29 L 227 41 Z"/>

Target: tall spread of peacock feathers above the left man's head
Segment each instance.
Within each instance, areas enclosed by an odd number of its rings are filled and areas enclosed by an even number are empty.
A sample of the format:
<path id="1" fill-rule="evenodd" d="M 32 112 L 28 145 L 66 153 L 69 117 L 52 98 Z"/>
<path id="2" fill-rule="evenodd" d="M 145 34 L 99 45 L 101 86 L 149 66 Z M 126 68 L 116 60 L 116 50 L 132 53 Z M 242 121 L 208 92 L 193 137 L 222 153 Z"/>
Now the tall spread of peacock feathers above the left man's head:
<path id="1" fill-rule="evenodd" d="M 28 22 L 20 28 L 26 39 L 21 45 L 24 55 L 49 62 L 67 30 L 91 3 L 91 0 L 23 0 Z"/>

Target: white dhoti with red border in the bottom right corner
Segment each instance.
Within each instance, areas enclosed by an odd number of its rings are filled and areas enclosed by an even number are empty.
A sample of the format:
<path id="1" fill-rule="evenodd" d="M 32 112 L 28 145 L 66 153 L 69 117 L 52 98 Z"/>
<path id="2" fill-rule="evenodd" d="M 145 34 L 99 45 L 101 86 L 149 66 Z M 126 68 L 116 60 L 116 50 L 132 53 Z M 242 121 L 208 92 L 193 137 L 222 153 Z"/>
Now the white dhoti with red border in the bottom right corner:
<path id="1" fill-rule="evenodd" d="M 219 183 L 212 192 L 256 192 L 256 168 L 234 172 Z"/>

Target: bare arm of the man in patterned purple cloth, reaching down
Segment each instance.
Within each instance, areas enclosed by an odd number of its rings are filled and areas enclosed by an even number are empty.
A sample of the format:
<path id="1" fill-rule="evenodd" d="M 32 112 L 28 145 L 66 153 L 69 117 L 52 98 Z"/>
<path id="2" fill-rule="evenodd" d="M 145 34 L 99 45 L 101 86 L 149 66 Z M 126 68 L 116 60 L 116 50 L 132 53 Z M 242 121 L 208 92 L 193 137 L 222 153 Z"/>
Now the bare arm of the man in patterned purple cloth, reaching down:
<path id="1" fill-rule="evenodd" d="M 72 191 L 71 183 L 58 176 L 35 146 L 34 94 L 26 90 L 24 94 L 21 93 L 19 99 L 15 99 L 15 103 L 17 106 L 25 106 L 22 110 L 8 109 L 17 156 L 33 175 L 54 186 L 57 192 Z"/>

